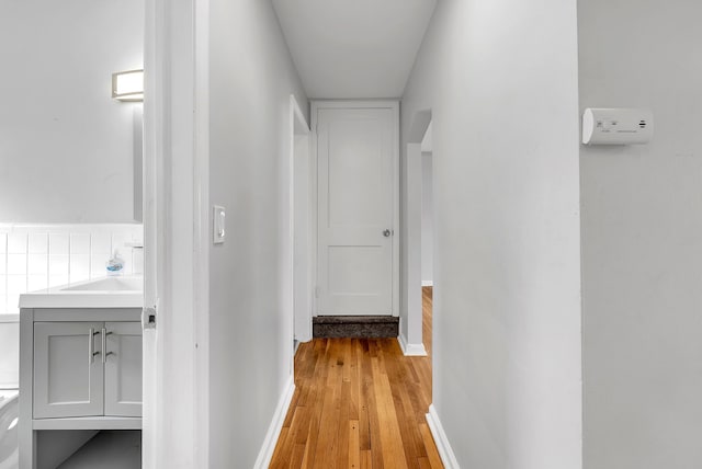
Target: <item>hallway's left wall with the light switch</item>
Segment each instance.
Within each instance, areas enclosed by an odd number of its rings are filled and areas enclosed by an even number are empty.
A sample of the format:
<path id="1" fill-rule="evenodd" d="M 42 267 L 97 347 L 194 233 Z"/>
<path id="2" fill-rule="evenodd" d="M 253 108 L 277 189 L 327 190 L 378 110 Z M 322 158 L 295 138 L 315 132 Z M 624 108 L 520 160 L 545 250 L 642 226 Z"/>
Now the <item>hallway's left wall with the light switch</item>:
<path id="1" fill-rule="evenodd" d="M 291 376 L 290 94 L 308 113 L 271 2 L 211 1 L 211 466 L 252 467 Z"/>

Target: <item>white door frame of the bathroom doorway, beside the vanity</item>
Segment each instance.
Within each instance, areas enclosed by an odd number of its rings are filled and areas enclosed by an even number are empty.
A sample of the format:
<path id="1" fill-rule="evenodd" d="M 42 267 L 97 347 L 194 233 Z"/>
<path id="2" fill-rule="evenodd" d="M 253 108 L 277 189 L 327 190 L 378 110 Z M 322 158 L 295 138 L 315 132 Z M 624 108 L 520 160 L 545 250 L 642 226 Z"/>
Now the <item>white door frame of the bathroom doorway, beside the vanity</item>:
<path id="1" fill-rule="evenodd" d="M 145 10 L 143 467 L 210 467 L 210 3 Z"/>

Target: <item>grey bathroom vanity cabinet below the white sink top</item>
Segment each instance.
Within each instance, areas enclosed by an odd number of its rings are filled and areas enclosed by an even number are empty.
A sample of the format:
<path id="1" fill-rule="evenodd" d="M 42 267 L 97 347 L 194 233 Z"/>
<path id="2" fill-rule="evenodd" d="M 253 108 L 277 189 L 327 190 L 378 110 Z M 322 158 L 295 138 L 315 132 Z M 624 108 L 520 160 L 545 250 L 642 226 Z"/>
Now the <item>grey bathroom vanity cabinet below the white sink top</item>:
<path id="1" fill-rule="evenodd" d="M 72 453 L 97 431 L 141 428 L 140 314 L 140 308 L 22 309 L 23 468 L 65 458 L 45 454 L 52 449 L 43 449 L 42 433 L 66 431 L 61 446 Z"/>

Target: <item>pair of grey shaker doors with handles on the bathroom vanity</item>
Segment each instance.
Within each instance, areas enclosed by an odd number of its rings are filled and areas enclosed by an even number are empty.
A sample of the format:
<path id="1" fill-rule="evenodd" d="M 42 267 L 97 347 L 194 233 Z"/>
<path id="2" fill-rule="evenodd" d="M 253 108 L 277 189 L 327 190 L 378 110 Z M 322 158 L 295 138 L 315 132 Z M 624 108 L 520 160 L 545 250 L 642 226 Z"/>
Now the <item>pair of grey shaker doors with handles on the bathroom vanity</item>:
<path id="1" fill-rule="evenodd" d="M 34 322 L 34 419 L 141 415 L 139 322 Z"/>

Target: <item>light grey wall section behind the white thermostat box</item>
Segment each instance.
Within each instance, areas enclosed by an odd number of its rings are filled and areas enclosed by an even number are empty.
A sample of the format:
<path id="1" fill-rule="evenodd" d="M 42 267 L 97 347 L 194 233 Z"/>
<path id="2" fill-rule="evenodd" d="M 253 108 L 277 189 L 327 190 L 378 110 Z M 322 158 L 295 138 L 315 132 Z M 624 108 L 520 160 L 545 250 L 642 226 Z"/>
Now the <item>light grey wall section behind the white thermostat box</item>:
<path id="1" fill-rule="evenodd" d="M 607 11 L 607 14 L 603 12 Z M 582 147 L 585 467 L 702 467 L 702 3 L 578 2 L 580 107 L 650 107 Z"/>

